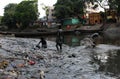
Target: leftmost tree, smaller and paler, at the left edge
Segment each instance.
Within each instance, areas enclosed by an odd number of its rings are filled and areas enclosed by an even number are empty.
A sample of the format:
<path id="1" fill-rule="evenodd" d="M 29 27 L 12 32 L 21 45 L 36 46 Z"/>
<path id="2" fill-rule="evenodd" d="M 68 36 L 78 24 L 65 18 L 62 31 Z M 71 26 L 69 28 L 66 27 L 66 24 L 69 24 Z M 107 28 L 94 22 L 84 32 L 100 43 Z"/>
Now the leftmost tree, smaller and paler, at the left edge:
<path id="1" fill-rule="evenodd" d="M 15 19 L 15 10 L 17 4 L 11 3 L 5 6 L 4 8 L 4 16 L 1 22 L 8 26 L 8 28 L 14 28 L 16 26 L 16 19 Z"/>

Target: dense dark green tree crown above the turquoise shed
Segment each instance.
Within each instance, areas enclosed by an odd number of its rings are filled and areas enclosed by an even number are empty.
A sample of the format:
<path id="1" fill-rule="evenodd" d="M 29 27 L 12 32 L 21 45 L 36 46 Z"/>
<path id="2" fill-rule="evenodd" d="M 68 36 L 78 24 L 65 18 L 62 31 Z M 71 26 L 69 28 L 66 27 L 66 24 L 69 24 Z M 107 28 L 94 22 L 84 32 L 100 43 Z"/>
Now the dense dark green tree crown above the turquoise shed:
<path id="1" fill-rule="evenodd" d="M 58 0 L 55 4 L 55 16 L 58 19 L 80 17 L 84 12 L 82 0 Z"/>

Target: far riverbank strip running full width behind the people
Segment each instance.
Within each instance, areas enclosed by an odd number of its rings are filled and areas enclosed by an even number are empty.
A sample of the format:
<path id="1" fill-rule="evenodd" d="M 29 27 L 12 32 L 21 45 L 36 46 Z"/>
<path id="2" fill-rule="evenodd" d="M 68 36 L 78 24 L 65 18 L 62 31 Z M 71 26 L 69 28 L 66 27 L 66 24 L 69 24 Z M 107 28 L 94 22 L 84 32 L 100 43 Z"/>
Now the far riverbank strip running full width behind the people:
<path id="1" fill-rule="evenodd" d="M 75 34 L 75 33 L 79 33 L 79 34 L 84 34 L 84 33 L 105 33 L 105 34 L 109 34 L 108 29 L 112 28 L 112 29 L 118 29 L 118 27 L 120 26 L 119 23 L 109 23 L 109 24 L 96 24 L 94 26 L 81 26 L 79 28 L 76 29 L 72 29 L 72 30 L 63 30 L 63 34 L 64 35 L 68 35 L 68 34 Z M 54 36 L 56 35 L 57 32 L 57 28 L 36 28 L 36 29 L 25 29 L 21 32 L 19 31 L 0 31 L 0 34 L 2 35 L 14 35 L 16 37 L 42 37 L 42 36 Z M 112 30 L 111 30 L 112 31 Z M 113 30 L 114 31 L 114 30 Z M 117 30 L 118 31 L 118 30 Z M 112 33 L 112 32 L 110 32 Z M 115 33 L 116 34 L 116 33 Z"/>

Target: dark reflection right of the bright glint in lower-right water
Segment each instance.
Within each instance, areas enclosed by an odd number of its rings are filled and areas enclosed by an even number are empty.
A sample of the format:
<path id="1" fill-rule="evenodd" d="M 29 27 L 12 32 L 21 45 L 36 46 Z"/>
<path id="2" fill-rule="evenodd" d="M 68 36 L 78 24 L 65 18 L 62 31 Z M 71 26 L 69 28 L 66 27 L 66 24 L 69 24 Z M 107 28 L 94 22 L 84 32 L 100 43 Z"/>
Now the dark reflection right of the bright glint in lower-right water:
<path id="1" fill-rule="evenodd" d="M 112 50 L 109 51 L 107 62 L 100 62 L 97 60 L 97 64 L 99 64 L 99 71 L 104 71 L 106 74 L 110 74 L 112 76 L 120 75 L 120 50 Z"/>

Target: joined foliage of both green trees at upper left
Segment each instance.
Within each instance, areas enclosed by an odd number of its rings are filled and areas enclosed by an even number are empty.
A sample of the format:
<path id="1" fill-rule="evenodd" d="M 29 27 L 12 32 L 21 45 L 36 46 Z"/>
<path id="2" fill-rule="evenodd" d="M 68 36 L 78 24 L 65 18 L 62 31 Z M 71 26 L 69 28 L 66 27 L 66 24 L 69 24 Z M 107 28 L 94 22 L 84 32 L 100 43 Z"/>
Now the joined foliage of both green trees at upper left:
<path id="1" fill-rule="evenodd" d="M 37 0 L 22 1 L 19 4 L 8 4 L 4 8 L 2 23 L 8 28 L 22 29 L 33 23 L 38 17 Z M 17 25 L 16 25 L 17 24 Z"/>

